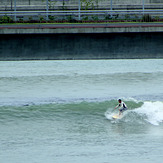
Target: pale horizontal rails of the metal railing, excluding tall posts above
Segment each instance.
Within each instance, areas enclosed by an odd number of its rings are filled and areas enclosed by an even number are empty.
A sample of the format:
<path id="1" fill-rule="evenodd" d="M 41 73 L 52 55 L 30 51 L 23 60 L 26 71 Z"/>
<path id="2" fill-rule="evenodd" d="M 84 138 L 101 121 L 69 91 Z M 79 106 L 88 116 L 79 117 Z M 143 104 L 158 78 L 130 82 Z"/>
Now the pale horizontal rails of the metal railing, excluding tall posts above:
<path id="1" fill-rule="evenodd" d="M 82 16 L 82 15 L 144 15 L 144 14 L 151 14 L 151 15 L 159 15 L 163 17 L 163 9 L 145 9 L 145 10 L 67 10 L 67 11 L 51 11 L 51 10 L 46 10 L 46 11 L 0 11 L 0 17 L 2 16 L 15 16 L 20 17 L 20 16 L 50 16 L 50 15 L 55 15 L 55 16 Z M 15 19 L 16 20 L 16 19 Z"/>

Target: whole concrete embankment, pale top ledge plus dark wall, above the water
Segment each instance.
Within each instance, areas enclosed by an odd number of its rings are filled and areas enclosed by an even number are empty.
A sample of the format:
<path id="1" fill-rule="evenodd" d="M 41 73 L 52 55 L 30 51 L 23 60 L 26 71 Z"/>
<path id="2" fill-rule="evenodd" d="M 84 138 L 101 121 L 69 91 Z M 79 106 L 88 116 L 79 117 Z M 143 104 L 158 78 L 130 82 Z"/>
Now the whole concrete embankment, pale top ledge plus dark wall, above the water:
<path id="1" fill-rule="evenodd" d="M 0 60 L 163 58 L 163 23 L 4 24 Z"/>

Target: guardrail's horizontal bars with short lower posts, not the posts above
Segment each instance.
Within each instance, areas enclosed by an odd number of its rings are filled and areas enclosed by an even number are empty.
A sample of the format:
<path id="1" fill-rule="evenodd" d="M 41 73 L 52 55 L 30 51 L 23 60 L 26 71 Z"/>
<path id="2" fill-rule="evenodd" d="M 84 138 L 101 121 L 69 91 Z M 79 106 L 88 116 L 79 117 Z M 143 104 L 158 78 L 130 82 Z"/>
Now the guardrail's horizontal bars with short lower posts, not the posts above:
<path id="1" fill-rule="evenodd" d="M 1 11 L 0 17 L 9 16 L 14 18 L 14 21 L 17 21 L 17 18 L 25 18 L 27 17 L 35 17 L 35 19 L 39 19 L 41 16 L 45 18 L 46 21 L 49 20 L 49 16 L 55 16 L 59 18 L 60 16 L 72 16 L 73 19 L 81 20 L 83 16 L 99 16 L 109 18 L 113 18 L 113 16 L 117 16 L 120 19 L 124 19 L 127 17 L 137 17 L 140 18 L 143 15 L 150 15 L 151 17 L 159 17 L 163 18 L 163 10 L 76 10 L 76 11 Z"/>

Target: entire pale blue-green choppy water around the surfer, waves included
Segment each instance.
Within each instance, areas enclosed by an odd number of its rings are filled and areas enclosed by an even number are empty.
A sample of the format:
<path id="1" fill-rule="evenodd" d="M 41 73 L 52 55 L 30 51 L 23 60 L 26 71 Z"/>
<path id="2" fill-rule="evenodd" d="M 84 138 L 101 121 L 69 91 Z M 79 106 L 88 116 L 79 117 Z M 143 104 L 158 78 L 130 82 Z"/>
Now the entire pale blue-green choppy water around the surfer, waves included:
<path id="1" fill-rule="evenodd" d="M 0 62 L 0 162 L 161 163 L 162 83 L 157 59 Z"/>

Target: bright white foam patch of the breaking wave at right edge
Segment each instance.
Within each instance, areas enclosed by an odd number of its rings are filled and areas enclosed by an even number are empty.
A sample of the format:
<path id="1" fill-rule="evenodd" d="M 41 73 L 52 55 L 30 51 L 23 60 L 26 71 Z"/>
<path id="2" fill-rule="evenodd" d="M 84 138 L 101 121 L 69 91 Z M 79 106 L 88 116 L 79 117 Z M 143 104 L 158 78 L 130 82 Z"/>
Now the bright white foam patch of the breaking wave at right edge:
<path id="1" fill-rule="evenodd" d="M 153 125 L 159 125 L 163 122 L 163 102 L 144 102 L 140 108 L 134 111 Z"/>

